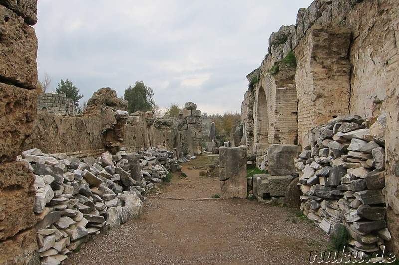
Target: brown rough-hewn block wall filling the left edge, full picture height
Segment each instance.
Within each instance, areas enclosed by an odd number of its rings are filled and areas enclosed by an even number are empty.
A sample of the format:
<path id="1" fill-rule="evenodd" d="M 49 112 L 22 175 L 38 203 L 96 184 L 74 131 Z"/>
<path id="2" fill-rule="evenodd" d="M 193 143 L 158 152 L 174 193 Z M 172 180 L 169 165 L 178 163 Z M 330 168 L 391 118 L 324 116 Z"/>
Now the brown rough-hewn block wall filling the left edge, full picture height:
<path id="1" fill-rule="evenodd" d="M 36 117 L 36 0 L 0 0 L 0 264 L 39 262 L 34 175 L 16 162 Z"/>

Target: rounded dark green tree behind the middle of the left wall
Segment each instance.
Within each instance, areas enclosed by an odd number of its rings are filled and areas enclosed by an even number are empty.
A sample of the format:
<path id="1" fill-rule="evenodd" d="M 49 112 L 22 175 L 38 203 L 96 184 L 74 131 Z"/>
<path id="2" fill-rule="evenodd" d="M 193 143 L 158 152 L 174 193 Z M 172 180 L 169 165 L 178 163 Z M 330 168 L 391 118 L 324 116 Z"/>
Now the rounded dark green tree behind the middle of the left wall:
<path id="1" fill-rule="evenodd" d="M 129 85 L 124 94 L 124 99 L 129 102 L 129 113 L 152 110 L 155 106 L 153 96 L 153 89 L 144 85 L 143 81 L 136 81 L 134 87 Z"/>

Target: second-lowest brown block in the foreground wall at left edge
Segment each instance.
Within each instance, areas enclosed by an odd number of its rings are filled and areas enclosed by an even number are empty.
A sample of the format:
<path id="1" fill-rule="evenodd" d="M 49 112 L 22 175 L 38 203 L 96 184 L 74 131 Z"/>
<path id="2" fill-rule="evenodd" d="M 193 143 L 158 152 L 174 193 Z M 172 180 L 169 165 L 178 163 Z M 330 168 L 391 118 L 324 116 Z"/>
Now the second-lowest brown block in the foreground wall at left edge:
<path id="1" fill-rule="evenodd" d="M 35 224 L 34 175 L 25 162 L 0 164 L 0 240 Z"/>

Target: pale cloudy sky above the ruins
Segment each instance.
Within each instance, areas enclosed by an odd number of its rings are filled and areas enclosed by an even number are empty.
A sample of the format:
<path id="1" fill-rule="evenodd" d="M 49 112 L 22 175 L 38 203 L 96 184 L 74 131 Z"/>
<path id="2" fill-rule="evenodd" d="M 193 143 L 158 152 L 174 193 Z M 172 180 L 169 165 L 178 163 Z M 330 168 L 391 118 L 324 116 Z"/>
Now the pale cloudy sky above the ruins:
<path id="1" fill-rule="evenodd" d="M 143 80 L 161 108 L 240 111 L 270 34 L 312 1 L 39 0 L 39 79 L 47 72 L 54 91 L 69 79 L 80 102 L 103 87 L 123 96 Z"/>

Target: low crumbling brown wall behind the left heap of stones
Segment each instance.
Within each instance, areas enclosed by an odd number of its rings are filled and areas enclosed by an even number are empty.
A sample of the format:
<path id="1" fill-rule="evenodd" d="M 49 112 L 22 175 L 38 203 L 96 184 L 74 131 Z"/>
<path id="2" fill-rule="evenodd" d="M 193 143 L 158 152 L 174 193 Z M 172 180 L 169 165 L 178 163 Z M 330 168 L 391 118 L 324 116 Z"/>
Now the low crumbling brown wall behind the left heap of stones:
<path id="1" fill-rule="evenodd" d="M 82 117 L 39 113 L 23 149 L 75 157 L 97 156 L 106 150 L 115 153 L 122 146 L 129 151 L 158 147 L 178 155 L 202 152 L 202 117 L 196 107 L 185 109 L 177 119 L 156 119 L 152 112 L 129 115 L 127 106 L 114 90 L 101 88 L 89 99 Z"/>

